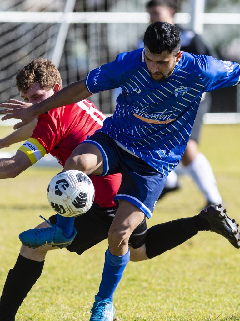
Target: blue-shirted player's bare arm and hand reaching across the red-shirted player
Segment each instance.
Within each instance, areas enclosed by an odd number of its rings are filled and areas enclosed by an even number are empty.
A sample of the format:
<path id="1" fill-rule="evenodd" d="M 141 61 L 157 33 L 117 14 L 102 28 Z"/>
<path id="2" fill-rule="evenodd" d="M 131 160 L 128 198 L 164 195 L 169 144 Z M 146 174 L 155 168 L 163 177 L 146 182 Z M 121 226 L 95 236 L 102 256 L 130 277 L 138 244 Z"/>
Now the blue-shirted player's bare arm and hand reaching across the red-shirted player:
<path id="1" fill-rule="evenodd" d="M 91 93 L 87 90 L 84 80 L 80 80 L 56 92 L 48 99 L 38 102 L 37 104 L 33 104 L 30 107 L 24 106 L 21 103 L 13 103 L 9 100 L 5 104 L 0 104 L 0 107 L 5 108 L 0 110 L 0 114 L 7 114 L 2 118 L 2 120 L 11 118 L 21 119 L 22 121 L 13 127 L 14 129 L 17 129 L 27 125 L 35 117 L 48 110 L 76 103 L 88 98 L 89 96 L 91 96 Z"/>

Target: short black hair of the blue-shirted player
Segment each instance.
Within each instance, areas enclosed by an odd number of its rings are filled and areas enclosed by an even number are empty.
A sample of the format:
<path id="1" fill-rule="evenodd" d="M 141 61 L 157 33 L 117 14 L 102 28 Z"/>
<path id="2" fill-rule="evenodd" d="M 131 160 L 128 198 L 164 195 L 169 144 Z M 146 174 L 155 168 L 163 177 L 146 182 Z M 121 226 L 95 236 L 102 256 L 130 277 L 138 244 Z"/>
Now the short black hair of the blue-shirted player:
<path id="1" fill-rule="evenodd" d="M 181 47 L 181 31 L 168 22 L 153 22 L 148 26 L 143 41 L 152 54 L 167 51 L 176 55 Z"/>

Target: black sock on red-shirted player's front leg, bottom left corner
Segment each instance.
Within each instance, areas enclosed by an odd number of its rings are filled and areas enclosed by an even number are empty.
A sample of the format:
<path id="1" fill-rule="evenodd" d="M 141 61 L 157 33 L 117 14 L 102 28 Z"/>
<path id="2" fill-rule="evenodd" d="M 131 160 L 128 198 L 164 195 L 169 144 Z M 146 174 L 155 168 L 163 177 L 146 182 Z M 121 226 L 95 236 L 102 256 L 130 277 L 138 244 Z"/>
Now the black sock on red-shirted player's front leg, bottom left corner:
<path id="1" fill-rule="evenodd" d="M 36 262 L 19 254 L 13 269 L 10 269 L 0 299 L 0 321 L 15 317 L 22 301 L 43 271 L 44 261 Z"/>

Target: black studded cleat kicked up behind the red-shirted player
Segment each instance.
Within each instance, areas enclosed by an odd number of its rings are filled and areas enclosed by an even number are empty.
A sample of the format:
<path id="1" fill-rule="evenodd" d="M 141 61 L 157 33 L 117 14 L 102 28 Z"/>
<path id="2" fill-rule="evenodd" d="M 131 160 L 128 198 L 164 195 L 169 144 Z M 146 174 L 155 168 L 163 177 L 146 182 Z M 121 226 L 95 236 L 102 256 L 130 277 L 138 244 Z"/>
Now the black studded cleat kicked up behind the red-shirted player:
<path id="1" fill-rule="evenodd" d="M 226 212 L 221 205 L 212 205 L 201 211 L 200 216 L 208 221 L 211 232 L 224 236 L 234 247 L 239 248 L 239 224 L 230 219 Z"/>

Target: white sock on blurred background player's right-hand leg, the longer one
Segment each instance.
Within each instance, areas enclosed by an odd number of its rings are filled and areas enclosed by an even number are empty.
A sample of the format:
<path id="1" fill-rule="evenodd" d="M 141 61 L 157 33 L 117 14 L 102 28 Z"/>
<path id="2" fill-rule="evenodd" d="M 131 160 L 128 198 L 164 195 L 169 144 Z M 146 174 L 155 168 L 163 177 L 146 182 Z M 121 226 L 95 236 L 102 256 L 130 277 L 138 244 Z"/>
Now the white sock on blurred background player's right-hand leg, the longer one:
<path id="1" fill-rule="evenodd" d="M 221 204 L 222 197 L 218 191 L 212 167 L 204 154 L 198 153 L 195 160 L 186 167 L 207 201 L 213 204 Z"/>

